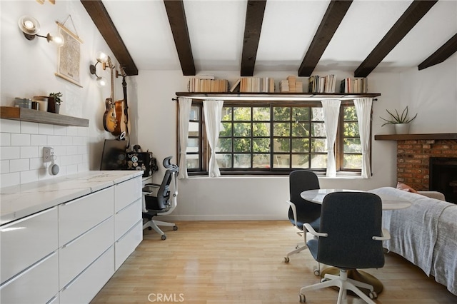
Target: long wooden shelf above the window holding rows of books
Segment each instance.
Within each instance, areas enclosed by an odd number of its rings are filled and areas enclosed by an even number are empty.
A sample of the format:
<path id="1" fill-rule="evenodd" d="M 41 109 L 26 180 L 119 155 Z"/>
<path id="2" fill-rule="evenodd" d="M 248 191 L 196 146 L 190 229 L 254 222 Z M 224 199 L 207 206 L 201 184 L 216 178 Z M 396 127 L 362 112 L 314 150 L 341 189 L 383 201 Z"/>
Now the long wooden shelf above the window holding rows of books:
<path id="1" fill-rule="evenodd" d="M 381 93 L 293 93 L 293 92 L 274 92 L 274 93 L 194 93 L 176 92 L 178 97 L 188 97 L 194 99 L 222 99 L 222 100 L 287 100 L 287 101 L 320 101 L 326 98 L 353 100 L 356 98 L 381 96 Z"/>

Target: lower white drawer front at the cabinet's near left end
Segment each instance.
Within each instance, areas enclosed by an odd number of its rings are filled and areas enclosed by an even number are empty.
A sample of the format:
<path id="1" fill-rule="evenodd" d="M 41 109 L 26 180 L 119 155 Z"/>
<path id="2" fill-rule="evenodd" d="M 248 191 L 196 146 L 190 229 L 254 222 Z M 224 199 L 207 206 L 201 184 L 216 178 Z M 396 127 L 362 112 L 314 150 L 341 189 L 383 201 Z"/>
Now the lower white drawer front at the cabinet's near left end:
<path id="1" fill-rule="evenodd" d="M 0 303 L 47 303 L 57 293 L 59 293 L 59 258 L 57 251 L 54 251 L 2 285 Z"/>

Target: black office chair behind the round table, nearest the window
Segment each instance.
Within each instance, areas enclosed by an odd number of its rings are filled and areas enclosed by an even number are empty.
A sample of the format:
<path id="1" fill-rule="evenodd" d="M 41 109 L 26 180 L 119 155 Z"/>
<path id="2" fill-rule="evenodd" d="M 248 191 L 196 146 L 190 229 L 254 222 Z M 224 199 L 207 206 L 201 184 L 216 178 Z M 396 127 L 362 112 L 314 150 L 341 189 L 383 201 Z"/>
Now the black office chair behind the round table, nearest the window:
<path id="1" fill-rule="evenodd" d="M 319 180 L 316 173 L 309 170 L 296 170 L 289 174 L 289 192 L 290 201 L 288 208 L 288 219 L 293 226 L 298 228 L 298 234 L 303 233 L 303 223 L 311 223 L 311 226 L 318 231 L 319 219 L 321 216 L 321 205 L 312 203 L 301 198 L 300 193 L 306 190 L 319 189 Z M 284 262 L 289 262 L 289 256 L 305 250 L 306 247 L 306 233 L 303 233 L 304 242 L 298 243 L 296 249 L 287 253 Z M 314 270 L 316 275 L 320 273 L 320 265 Z"/>

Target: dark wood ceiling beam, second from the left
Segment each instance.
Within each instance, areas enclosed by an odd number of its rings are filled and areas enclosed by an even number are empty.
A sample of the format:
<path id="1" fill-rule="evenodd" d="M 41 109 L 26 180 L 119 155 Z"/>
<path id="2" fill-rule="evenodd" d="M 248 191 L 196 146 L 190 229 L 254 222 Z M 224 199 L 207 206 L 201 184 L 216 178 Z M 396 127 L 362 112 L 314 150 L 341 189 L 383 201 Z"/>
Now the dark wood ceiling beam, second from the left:
<path id="1" fill-rule="evenodd" d="M 164 0 L 164 4 L 183 74 L 184 76 L 195 76 L 194 56 L 192 55 L 184 3 L 182 0 Z"/>

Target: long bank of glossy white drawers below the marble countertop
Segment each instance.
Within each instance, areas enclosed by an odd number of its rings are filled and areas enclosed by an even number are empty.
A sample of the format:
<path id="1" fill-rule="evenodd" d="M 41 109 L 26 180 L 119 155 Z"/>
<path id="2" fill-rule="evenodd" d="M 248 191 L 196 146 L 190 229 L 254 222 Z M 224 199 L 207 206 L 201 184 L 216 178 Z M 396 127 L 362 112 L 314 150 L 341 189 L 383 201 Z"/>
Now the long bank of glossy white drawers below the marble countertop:
<path id="1" fill-rule="evenodd" d="M 0 303 L 89 303 L 143 239 L 141 176 L 0 227 Z"/>

